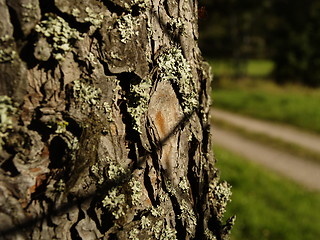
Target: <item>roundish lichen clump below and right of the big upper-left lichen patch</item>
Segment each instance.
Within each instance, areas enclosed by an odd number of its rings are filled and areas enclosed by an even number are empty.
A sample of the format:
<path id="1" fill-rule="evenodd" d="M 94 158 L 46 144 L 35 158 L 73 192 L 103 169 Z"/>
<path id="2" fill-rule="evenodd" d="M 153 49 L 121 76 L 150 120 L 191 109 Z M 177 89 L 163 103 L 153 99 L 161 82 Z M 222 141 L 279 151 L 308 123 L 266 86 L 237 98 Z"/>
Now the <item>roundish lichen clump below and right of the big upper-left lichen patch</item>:
<path id="1" fill-rule="evenodd" d="M 101 90 L 91 86 L 84 79 L 74 81 L 73 96 L 90 106 L 95 106 L 100 101 Z"/>

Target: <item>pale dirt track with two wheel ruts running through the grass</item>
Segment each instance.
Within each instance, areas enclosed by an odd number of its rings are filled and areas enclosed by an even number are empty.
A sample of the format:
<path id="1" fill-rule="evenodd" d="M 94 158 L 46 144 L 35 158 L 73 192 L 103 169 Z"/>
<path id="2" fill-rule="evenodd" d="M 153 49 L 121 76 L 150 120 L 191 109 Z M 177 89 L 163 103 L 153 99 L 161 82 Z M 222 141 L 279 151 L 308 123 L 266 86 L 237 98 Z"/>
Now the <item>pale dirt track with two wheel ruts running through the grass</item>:
<path id="1" fill-rule="evenodd" d="M 212 118 L 214 119 L 217 116 L 218 114 L 215 110 L 212 115 Z M 219 116 L 221 118 L 221 115 Z M 236 116 L 234 114 L 228 114 L 228 117 L 229 116 L 232 116 L 232 121 L 234 121 L 235 124 L 239 124 L 235 120 L 238 119 L 239 116 Z M 239 118 L 241 119 L 241 124 L 245 125 L 250 130 L 260 132 L 266 131 L 266 129 L 264 128 L 266 126 L 265 122 L 260 122 L 252 119 L 248 119 L 248 121 L 246 121 L 245 117 Z M 258 122 L 260 123 L 256 124 Z M 277 129 L 277 126 L 274 126 L 270 123 L 267 124 L 269 127 L 267 129 L 268 131 L 263 133 L 274 132 L 274 130 Z M 263 127 L 260 128 L 259 126 Z M 286 137 L 288 137 L 286 135 L 285 128 L 281 128 L 281 131 L 280 129 L 277 129 L 276 131 L 281 132 L 282 136 L 285 135 Z M 292 132 L 290 132 L 290 134 L 292 134 Z M 296 138 L 302 139 L 306 137 L 304 133 L 300 135 L 298 131 L 296 131 L 296 135 L 290 136 L 291 138 L 288 138 L 290 140 Z M 306 139 L 306 141 L 310 141 L 310 139 Z M 312 145 L 317 147 L 317 143 L 320 144 L 320 140 L 314 139 L 314 141 L 317 142 L 312 142 Z M 233 152 L 239 153 L 240 155 L 248 158 L 251 161 L 258 162 L 269 169 L 272 169 L 284 176 L 291 178 L 292 180 L 295 180 L 296 182 L 304 185 L 305 187 L 311 190 L 320 191 L 320 164 L 308 161 L 300 157 L 296 157 L 292 154 L 288 154 L 283 151 L 276 150 L 272 147 L 262 145 L 252 140 L 248 140 L 236 133 L 233 133 L 228 130 L 219 129 L 216 126 L 213 126 L 213 143 L 221 145 Z M 297 141 L 295 143 L 298 144 Z"/>

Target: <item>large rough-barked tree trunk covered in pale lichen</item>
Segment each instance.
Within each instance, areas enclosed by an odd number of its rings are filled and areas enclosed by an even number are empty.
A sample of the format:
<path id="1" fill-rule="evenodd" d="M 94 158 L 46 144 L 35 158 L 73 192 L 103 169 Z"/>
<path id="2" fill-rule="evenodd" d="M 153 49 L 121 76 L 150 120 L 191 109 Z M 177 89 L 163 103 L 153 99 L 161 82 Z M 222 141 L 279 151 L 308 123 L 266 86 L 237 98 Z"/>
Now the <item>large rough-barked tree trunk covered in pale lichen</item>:
<path id="1" fill-rule="evenodd" d="M 226 239 L 197 1 L 0 0 L 0 238 Z"/>

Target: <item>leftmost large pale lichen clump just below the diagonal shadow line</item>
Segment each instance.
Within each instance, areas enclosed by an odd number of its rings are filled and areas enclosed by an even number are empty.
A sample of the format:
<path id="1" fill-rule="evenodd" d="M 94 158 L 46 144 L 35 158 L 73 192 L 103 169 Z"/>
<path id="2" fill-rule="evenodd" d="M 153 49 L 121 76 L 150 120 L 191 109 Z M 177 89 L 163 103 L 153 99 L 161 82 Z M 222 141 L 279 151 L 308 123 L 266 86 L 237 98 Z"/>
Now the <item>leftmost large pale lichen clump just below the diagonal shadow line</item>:
<path id="1" fill-rule="evenodd" d="M 115 219 L 124 216 L 127 209 L 125 195 L 120 189 L 121 187 L 112 188 L 102 200 L 102 205 L 111 212 Z"/>

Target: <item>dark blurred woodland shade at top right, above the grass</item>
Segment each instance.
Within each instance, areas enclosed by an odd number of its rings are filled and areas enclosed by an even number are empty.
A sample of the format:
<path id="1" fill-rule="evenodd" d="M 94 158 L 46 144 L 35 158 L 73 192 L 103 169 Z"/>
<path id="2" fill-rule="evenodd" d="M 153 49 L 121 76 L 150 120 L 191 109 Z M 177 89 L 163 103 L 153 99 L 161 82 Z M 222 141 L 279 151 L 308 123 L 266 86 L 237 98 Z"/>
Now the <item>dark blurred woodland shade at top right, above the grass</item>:
<path id="1" fill-rule="evenodd" d="M 277 83 L 320 86 L 320 3 L 202 0 L 200 48 L 207 58 L 271 59 Z M 201 10 L 200 15 L 203 15 Z"/>

